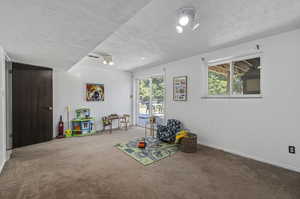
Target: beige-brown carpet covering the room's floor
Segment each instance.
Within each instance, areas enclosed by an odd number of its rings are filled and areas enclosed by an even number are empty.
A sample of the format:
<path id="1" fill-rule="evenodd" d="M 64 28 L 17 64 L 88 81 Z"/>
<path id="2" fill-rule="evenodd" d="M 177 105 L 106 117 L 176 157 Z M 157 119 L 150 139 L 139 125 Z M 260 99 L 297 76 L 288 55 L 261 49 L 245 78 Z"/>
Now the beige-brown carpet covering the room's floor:
<path id="1" fill-rule="evenodd" d="M 142 166 L 113 146 L 143 129 L 54 140 L 13 152 L 1 199 L 299 199 L 300 174 L 199 147 Z"/>

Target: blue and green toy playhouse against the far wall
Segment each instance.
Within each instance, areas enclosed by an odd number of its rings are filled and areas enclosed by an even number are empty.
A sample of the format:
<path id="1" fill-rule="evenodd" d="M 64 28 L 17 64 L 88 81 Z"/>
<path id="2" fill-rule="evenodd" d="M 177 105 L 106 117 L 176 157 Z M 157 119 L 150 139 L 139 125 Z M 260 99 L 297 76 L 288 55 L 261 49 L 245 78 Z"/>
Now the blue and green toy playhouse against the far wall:
<path id="1" fill-rule="evenodd" d="M 95 119 L 90 116 L 89 108 L 75 110 L 76 118 L 72 120 L 72 136 L 84 136 L 95 133 Z"/>

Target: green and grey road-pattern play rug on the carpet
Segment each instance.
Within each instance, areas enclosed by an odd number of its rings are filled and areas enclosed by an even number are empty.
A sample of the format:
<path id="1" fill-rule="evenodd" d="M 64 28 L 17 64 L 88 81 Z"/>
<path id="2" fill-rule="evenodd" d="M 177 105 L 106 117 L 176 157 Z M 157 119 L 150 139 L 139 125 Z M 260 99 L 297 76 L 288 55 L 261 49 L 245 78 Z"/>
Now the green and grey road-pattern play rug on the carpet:
<path id="1" fill-rule="evenodd" d="M 178 151 L 178 145 L 167 144 L 152 137 L 147 137 L 147 147 L 145 149 L 140 149 L 137 147 L 140 140 L 141 139 L 138 138 L 128 142 L 127 144 L 116 144 L 115 147 L 125 152 L 144 166 L 169 157 Z"/>

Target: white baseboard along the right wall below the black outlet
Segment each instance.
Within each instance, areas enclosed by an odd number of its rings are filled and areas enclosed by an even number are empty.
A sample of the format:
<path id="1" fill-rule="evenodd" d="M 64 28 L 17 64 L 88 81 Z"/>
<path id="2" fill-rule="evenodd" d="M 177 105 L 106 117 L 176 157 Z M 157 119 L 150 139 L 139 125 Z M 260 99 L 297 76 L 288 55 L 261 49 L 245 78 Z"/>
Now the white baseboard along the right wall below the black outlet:
<path id="1" fill-rule="evenodd" d="M 293 167 L 293 166 L 290 166 L 290 165 L 285 165 L 285 164 L 282 164 L 282 163 L 266 160 L 266 159 L 263 159 L 263 158 L 254 157 L 254 156 L 251 156 L 251 155 L 248 155 L 248 154 L 245 154 L 245 153 L 241 153 L 241 152 L 237 152 L 237 151 L 233 151 L 233 150 L 230 150 L 230 149 L 224 149 L 222 147 L 215 146 L 215 145 L 212 145 L 212 144 L 201 143 L 201 142 L 198 142 L 198 144 L 201 144 L 203 146 L 207 146 L 207 147 L 210 147 L 210 148 L 215 148 L 215 149 L 225 151 L 225 152 L 228 152 L 228 153 L 231 153 L 231 154 L 234 154 L 234 155 L 243 156 L 245 158 L 249 158 L 249 159 L 252 159 L 252 160 L 256 160 L 256 161 L 259 161 L 259 162 L 271 164 L 271 165 L 276 166 L 276 167 L 281 167 L 281 168 L 284 168 L 284 169 L 288 169 L 288 170 L 300 173 L 300 168 L 296 168 L 296 167 Z"/>

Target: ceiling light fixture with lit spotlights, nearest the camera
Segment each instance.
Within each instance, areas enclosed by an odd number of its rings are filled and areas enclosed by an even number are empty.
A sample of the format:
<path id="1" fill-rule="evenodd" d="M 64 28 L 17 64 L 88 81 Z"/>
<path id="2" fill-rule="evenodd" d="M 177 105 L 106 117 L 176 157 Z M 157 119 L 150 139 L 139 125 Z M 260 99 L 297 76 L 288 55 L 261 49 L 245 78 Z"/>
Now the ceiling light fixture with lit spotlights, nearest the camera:
<path id="1" fill-rule="evenodd" d="M 183 28 L 190 24 L 193 31 L 197 30 L 200 26 L 199 19 L 196 18 L 195 8 L 180 8 L 177 10 L 177 33 L 182 33 Z"/>

